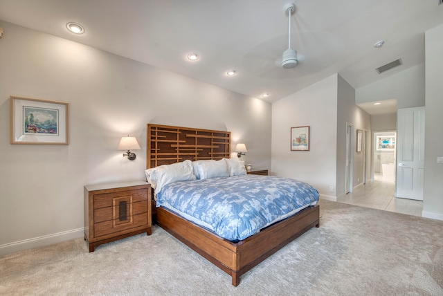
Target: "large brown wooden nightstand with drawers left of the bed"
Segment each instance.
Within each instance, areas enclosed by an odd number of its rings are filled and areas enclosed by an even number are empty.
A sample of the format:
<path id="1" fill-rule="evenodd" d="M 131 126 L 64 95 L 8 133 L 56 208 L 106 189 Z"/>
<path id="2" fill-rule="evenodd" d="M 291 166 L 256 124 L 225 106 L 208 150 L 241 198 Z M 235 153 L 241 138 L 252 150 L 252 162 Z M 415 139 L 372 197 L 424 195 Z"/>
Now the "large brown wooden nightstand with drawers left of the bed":
<path id="1" fill-rule="evenodd" d="M 84 186 L 84 239 L 96 246 L 151 234 L 151 185 L 129 181 Z"/>

